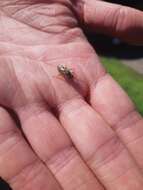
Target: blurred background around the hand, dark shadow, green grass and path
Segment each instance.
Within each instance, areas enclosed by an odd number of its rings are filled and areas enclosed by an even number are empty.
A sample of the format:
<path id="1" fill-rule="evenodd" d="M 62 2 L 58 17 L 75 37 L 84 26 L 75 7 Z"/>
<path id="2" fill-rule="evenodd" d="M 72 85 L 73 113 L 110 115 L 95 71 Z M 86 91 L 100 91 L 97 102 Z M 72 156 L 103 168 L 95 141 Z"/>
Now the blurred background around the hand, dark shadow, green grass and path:
<path id="1" fill-rule="evenodd" d="M 143 10 L 141 0 L 108 0 Z M 117 38 L 87 34 L 108 72 L 120 83 L 143 115 L 143 46 L 132 46 Z M 10 190 L 0 179 L 0 190 Z"/>

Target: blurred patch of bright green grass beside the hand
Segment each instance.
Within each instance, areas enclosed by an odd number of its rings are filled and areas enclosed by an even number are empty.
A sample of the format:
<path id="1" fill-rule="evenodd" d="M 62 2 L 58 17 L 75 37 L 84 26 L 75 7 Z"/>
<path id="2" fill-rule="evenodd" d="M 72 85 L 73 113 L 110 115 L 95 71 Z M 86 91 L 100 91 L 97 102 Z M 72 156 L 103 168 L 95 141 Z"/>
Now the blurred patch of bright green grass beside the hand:
<path id="1" fill-rule="evenodd" d="M 134 101 L 138 111 L 143 115 L 143 75 L 112 58 L 101 58 L 102 63 L 113 78 Z"/>

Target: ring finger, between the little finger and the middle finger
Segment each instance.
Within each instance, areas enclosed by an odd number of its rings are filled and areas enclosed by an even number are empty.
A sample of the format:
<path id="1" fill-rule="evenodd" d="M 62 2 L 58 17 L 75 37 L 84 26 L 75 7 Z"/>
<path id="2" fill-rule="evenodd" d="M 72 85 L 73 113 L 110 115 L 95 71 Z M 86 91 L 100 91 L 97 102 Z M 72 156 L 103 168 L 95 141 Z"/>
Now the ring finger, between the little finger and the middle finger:
<path id="1" fill-rule="evenodd" d="M 17 113 L 33 149 L 50 168 L 63 189 L 103 190 L 47 107 L 27 105 L 19 108 Z"/>

